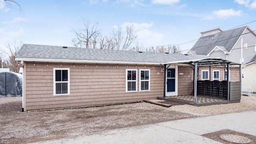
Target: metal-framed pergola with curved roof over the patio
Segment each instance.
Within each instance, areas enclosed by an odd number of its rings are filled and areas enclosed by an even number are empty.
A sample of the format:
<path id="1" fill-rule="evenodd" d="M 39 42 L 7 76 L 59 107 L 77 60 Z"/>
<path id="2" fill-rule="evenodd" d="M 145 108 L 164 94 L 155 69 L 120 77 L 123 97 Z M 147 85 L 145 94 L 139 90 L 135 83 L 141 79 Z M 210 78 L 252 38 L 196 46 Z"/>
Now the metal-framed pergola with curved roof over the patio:
<path id="1" fill-rule="evenodd" d="M 197 97 L 197 76 L 198 76 L 198 68 L 199 67 L 204 67 L 208 66 L 211 68 L 211 66 L 223 66 L 227 70 L 227 101 L 230 101 L 230 66 L 232 65 L 239 65 L 240 68 L 240 82 L 242 78 L 241 74 L 241 65 L 230 62 L 228 60 L 224 60 L 221 58 L 201 58 L 201 59 L 194 59 L 194 60 L 181 60 L 181 61 L 174 61 L 174 62 L 166 62 L 164 64 L 164 73 L 166 73 L 166 70 L 171 66 L 171 65 L 190 65 L 190 67 L 194 70 L 194 104 L 197 104 L 196 97 Z M 211 74 L 210 74 L 211 75 Z M 166 83 L 166 74 L 164 75 L 164 83 Z M 240 85 L 241 86 L 241 85 Z M 164 84 L 164 91 L 166 90 L 166 85 Z M 241 94 L 241 93 L 240 93 Z M 164 97 L 165 94 L 164 94 Z"/>

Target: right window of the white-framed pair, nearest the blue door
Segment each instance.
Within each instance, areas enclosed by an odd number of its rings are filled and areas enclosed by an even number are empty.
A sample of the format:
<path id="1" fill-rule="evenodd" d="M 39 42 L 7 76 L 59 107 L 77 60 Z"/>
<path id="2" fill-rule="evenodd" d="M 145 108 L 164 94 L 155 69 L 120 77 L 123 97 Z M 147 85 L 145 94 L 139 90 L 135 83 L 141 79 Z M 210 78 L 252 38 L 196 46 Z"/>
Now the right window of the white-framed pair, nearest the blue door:
<path id="1" fill-rule="evenodd" d="M 140 90 L 150 91 L 150 70 L 140 70 Z"/>

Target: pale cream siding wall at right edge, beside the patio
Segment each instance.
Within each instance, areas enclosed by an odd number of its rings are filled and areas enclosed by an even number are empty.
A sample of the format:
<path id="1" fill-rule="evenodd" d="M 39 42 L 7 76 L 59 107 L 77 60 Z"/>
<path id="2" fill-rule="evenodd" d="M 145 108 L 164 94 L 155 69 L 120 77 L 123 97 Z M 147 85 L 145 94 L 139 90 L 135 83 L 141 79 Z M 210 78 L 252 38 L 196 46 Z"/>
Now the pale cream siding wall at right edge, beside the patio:
<path id="1" fill-rule="evenodd" d="M 244 67 L 242 79 L 243 86 L 251 86 L 253 92 L 256 92 L 256 62 Z"/>

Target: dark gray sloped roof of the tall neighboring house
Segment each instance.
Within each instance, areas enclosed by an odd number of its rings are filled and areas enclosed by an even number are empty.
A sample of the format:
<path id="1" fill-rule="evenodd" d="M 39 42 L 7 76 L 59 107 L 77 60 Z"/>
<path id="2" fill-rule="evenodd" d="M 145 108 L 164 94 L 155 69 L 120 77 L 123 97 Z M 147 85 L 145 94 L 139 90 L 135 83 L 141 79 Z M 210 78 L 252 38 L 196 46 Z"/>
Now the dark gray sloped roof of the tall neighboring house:
<path id="1" fill-rule="evenodd" d="M 190 51 L 196 51 L 196 54 L 207 55 L 216 46 L 222 46 L 226 48 L 227 52 L 230 52 L 246 27 L 247 26 L 218 32 L 208 36 L 201 36 Z"/>

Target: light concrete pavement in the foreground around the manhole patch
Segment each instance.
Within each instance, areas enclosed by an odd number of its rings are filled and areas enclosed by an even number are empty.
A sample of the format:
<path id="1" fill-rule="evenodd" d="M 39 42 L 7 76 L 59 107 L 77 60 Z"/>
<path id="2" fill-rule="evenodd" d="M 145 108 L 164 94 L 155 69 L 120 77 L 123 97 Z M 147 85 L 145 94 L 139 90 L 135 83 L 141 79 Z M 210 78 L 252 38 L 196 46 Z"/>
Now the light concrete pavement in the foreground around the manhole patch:
<path id="1" fill-rule="evenodd" d="M 38 142 L 39 144 L 221 144 L 200 135 L 224 129 L 256 136 L 256 110 L 188 118 Z M 34 143 L 34 144 L 38 144 Z"/>

